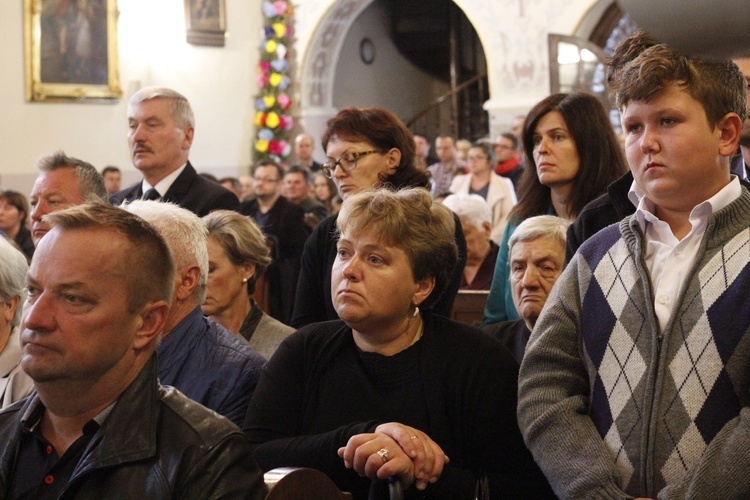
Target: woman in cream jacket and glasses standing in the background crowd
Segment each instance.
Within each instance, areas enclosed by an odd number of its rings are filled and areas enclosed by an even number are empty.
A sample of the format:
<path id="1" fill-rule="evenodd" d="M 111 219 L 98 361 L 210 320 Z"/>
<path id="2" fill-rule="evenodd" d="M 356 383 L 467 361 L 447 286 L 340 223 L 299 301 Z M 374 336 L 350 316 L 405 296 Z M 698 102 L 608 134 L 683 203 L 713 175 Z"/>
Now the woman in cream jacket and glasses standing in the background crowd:
<path id="1" fill-rule="evenodd" d="M 508 215 L 516 204 L 516 192 L 510 179 L 492 171 L 494 164 L 492 146 L 475 142 L 466 155 L 469 173 L 454 177 L 449 191 L 453 194 L 477 194 L 484 198 L 492 217 L 490 239 L 499 245 Z"/>

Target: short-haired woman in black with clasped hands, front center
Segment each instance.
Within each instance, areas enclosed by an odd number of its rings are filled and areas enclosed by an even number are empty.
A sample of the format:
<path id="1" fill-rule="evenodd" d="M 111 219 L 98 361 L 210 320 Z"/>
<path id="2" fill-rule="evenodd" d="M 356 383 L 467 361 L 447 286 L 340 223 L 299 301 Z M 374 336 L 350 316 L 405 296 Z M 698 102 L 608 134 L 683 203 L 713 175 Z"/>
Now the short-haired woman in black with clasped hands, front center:
<path id="1" fill-rule="evenodd" d="M 455 219 L 425 189 L 353 194 L 336 221 L 340 320 L 279 346 L 248 407 L 264 470 L 312 467 L 355 499 L 398 477 L 407 497 L 551 495 L 516 423 L 517 364 L 431 309 L 452 279 Z M 450 457 L 448 460 L 447 457 Z"/>

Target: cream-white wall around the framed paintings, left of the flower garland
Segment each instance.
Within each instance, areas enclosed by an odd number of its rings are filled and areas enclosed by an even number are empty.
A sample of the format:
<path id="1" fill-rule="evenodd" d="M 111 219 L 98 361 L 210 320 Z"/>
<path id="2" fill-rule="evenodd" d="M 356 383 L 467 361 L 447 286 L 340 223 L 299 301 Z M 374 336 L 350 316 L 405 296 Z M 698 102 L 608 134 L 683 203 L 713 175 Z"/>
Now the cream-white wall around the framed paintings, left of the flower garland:
<path id="1" fill-rule="evenodd" d="M 196 117 L 190 159 L 198 171 L 245 173 L 251 163 L 260 0 L 226 0 L 225 47 L 185 41 L 184 0 L 119 0 L 120 82 L 115 103 L 27 103 L 24 97 L 23 1 L 0 16 L 0 184 L 31 191 L 38 157 L 56 149 L 101 169 L 114 164 L 124 182 L 140 179 L 128 154 L 126 104 L 140 86 L 174 88 Z"/>

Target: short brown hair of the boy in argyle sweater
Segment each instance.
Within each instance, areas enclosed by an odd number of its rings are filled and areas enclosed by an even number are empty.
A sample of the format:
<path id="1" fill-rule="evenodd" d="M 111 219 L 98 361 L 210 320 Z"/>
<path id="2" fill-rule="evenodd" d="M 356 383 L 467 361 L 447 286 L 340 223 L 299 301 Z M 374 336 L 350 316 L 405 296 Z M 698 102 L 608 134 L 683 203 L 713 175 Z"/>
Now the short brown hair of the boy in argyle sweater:
<path id="1" fill-rule="evenodd" d="M 743 121 L 747 117 L 747 82 L 730 60 L 703 60 L 663 43 L 649 45 L 639 33 L 623 41 L 616 53 L 628 54 L 611 73 L 610 84 L 620 109 L 630 101 L 648 101 L 667 86 L 677 85 L 703 106 L 711 127 L 727 113 L 736 113 Z"/>

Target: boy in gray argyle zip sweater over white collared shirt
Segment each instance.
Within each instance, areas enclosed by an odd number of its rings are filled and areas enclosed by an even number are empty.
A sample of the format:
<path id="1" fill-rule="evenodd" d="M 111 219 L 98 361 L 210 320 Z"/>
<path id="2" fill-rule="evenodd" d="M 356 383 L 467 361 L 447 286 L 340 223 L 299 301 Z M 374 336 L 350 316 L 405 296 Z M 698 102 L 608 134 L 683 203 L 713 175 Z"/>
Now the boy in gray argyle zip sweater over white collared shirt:
<path id="1" fill-rule="evenodd" d="M 729 170 L 747 86 L 641 42 L 612 79 L 637 210 L 555 285 L 519 425 L 562 498 L 750 498 L 750 192 Z"/>

